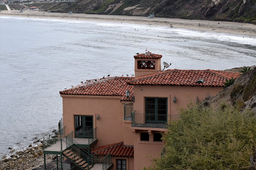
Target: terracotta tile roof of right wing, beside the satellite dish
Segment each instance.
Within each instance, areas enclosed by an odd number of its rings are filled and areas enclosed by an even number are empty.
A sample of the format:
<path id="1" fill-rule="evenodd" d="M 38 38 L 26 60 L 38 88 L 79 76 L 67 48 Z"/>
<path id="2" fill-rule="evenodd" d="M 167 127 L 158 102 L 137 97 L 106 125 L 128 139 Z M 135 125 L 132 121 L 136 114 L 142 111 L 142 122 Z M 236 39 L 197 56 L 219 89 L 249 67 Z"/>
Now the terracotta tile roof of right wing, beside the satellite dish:
<path id="1" fill-rule="evenodd" d="M 159 71 L 137 77 L 128 81 L 129 85 L 186 85 L 186 86 L 213 86 L 223 87 L 226 79 L 237 78 L 242 73 L 217 70 L 178 70 L 171 69 Z M 197 83 L 199 79 L 204 79 L 203 83 Z"/>

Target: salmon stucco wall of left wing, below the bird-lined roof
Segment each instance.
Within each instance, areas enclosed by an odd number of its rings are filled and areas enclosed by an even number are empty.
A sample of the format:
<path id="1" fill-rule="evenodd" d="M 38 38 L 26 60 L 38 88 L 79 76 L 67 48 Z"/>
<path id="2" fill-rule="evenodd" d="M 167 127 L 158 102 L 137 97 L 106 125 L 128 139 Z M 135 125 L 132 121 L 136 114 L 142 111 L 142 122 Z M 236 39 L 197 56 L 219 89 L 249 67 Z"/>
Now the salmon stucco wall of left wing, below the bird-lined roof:
<path id="1" fill-rule="evenodd" d="M 66 134 L 75 130 L 74 115 L 92 115 L 98 142 L 91 148 L 123 141 L 123 104 L 121 97 L 61 95 Z M 96 116 L 99 115 L 99 120 Z"/>

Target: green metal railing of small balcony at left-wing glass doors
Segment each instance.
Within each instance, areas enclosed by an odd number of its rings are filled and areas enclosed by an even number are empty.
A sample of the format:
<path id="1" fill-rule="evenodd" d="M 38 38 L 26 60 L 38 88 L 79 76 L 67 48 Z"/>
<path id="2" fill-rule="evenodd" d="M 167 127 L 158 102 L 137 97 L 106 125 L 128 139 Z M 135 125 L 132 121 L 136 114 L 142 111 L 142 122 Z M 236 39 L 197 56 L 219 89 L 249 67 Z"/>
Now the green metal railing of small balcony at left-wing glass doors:
<path id="1" fill-rule="evenodd" d="M 90 144 L 97 139 L 97 128 L 87 132 L 75 132 L 75 138 L 79 138 L 81 144 Z"/>

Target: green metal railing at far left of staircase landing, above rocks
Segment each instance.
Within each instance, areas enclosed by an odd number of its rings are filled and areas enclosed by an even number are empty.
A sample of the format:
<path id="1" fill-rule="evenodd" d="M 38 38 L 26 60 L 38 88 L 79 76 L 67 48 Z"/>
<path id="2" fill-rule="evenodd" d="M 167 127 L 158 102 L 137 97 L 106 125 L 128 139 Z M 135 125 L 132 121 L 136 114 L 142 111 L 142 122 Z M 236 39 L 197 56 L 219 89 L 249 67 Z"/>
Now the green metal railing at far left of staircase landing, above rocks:
<path id="1" fill-rule="evenodd" d="M 65 137 L 65 128 L 60 128 L 59 130 L 56 130 L 55 132 L 52 132 L 46 136 L 43 137 L 43 143 L 44 143 L 44 149 L 52 146 L 54 150 L 60 150 L 61 149 L 61 142 L 60 139 Z"/>

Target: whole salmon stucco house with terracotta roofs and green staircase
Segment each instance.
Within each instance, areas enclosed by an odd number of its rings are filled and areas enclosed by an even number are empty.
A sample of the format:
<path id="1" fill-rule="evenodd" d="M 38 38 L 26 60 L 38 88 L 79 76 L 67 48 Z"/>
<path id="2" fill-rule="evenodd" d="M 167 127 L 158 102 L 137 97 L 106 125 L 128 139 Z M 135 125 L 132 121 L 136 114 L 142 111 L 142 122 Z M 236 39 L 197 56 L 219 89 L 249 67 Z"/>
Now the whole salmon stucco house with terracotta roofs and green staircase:
<path id="1" fill-rule="evenodd" d="M 138 170 L 160 156 L 168 121 L 177 108 L 216 95 L 226 79 L 241 73 L 216 70 L 161 70 L 161 57 L 135 55 L 135 77 L 87 80 L 60 91 L 63 127 L 44 138 L 45 154 L 65 156 L 64 169 Z M 62 165 L 62 164 L 61 164 Z"/>

